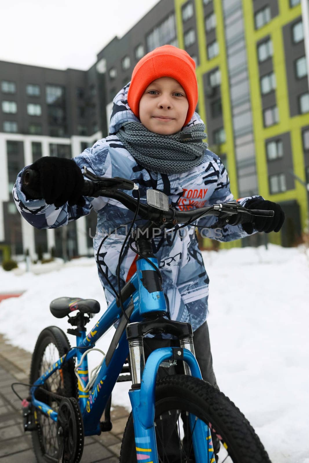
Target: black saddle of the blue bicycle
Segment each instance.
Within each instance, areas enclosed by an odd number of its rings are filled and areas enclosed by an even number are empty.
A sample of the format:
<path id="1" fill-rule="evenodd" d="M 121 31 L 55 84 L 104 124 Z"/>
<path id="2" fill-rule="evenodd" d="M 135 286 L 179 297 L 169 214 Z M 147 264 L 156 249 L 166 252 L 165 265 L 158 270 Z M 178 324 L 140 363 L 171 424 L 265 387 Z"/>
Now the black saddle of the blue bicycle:
<path id="1" fill-rule="evenodd" d="M 80 297 L 58 297 L 50 302 L 50 312 L 56 318 L 63 318 L 74 310 L 82 313 L 99 313 L 100 304 L 95 299 Z"/>

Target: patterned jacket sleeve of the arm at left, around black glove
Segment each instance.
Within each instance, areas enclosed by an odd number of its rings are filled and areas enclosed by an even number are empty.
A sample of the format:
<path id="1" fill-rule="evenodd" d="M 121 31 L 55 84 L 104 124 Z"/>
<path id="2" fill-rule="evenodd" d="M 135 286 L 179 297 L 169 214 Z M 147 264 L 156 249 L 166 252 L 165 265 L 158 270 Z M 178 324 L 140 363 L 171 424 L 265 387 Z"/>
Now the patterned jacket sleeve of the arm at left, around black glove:
<path id="1" fill-rule="evenodd" d="M 108 159 L 107 148 L 87 148 L 74 158 L 76 164 L 82 169 L 86 166 L 88 170 L 96 175 L 104 175 L 107 170 Z M 46 204 L 44 199 L 27 200 L 25 194 L 21 190 L 21 174 L 29 168 L 26 166 L 17 175 L 16 183 L 13 188 L 13 198 L 15 204 L 23 216 L 31 225 L 38 228 L 57 228 L 67 225 L 70 220 L 79 219 L 82 216 L 88 215 L 92 208 L 99 210 L 108 202 L 108 198 L 86 198 L 86 204 L 83 207 L 69 206 L 68 203 L 61 207 L 56 207 L 54 204 Z"/>

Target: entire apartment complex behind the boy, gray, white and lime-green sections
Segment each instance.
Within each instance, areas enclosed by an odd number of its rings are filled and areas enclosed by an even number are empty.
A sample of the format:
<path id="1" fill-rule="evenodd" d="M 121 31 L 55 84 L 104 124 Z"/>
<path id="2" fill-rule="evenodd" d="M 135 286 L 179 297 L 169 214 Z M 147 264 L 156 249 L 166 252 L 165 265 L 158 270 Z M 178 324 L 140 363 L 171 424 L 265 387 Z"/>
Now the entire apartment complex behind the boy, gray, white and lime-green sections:
<path id="1" fill-rule="evenodd" d="M 115 37 L 107 44 L 87 72 L 0 62 L 0 152 L 6 152 L 5 169 L 0 174 L 6 177 L 6 183 L 0 182 L 0 214 L 8 224 L 0 228 L 0 246 L 1 240 L 9 242 L 9 224 L 15 220 L 19 224 L 14 237 L 16 252 L 29 247 L 22 229 L 27 225 L 20 225 L 16 214 L 14 217 L 8 199 L 9 183 L 17 170 L 13 163 L 30 163 L 40 156 L 35 143 L 41 143 L 43 154 L 62 150 L 59 156 L 75 156 L 87 144 L 106 136 L 114 95 L 130 81 L 139 59 L 164 44 L 185 49 L 195 60 L 197 111 L 205 121 L 210 148 L 227 166 L 234 197 L 260 194 L 280 203 L 286 214 L 284 227 L 268 238 L 277 244 L 295 244 L 309 210 L 308 3 L 161 0 L 122 38 Z M 5 75 L 2 69 L 6 69 Z M 16 75 L 23 77 L 19 80 Z M 35 85 L 42 94 L 27 93 L 37 92 Z M 62 86 L 64 93 L 58 90 L 55 94 L 53 86 Z M 82 97 L 77 88 L 84 89 Z M 59 132 L 50 117 L 55 117 L 55 112 L 60 117 L 59 108 L 63 107 L 69 117 L 66 125 L 59 119 L 63 130 Z M 42 128 L 37 129 L 36 124 Z M 36 130 L 42 134 L 34 133 Z M 15 144 L 7 145 L 8 141 Z M 69 145 L 71 152 L 51 148 L 52 144 Z M 80 254 L 91 246 L 88 232 L 85 237 L 87 220 L 83 225 L 70 224 L 81 227 L 82 232 L 79 228 L 75 235 L 72 232 L 71 240 L 74 252 Z M 33 233 L 35 243 L 39 242 L 37 231 Z M 45 248 L 60 243 L 57 233 L 62 231 L 46 231 Z M 262 239 L 259 234 L 225 246 L 259 244 Z M 58 249 L 60 252 L 60 244 Z"/>

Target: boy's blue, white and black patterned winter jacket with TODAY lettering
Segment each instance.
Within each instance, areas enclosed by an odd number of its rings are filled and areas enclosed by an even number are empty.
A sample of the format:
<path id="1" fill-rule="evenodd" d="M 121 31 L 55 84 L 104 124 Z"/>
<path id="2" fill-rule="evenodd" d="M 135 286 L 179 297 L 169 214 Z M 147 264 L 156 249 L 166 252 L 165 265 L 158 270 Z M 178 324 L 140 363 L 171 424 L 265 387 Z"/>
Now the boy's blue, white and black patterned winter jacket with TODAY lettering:
<path id="1" fill-rule="evenodd" d="M 221 160 L 210 150 L 206 150 L 202 163 L 183 174 L 160 174 L 149 171 L 139 165 L 132 155 L 121 144 L 117 131 L 126 121 L 138 121 L 127 103 L 126 85 L 114 98 L 114 106 L 110 120 L 110 134 L 107 138 L 98 140 L 92 148 L 87 148 L 76 156 L 74 161 L 79 167 L 86 166 L 96 175 L 104 177 L 124 177 L 139 185 L 141 202 L 146 201 L 146 190 L 155 188 L 169 196 L 169 202 L 179 210 L 189 210 L 192 207 L 206 207 L 216 203 L 233 200 L 227 170 Z M 188 125 L 201 123 L 202 120 L 194 113 Z M 135 195 L 136 192 L 126 192 Z M 116 268 L 118 256 L 126 234 L 126 224 L 132 220 L 133 213 L 118 201 L 99 197 L 85 198 L 83 207 L 65 204 L 56 208 L 47 205 L 43 199 L 26 200 L 21 191 L 21 172 L 17 177 L 13 189 L 13 197 L 21 215 L 38 229 L 56 228 L 66 225 L 69 220 L 76 220 L 87 215 L 93 208 L 97 212 L 97 235 L 94 242 L 94 253 L 98 250 L 105 233 L 117 228 L 104 242 L 100 252 L 100 262 L 108 278 L 117 288 Z M 242 198 L 240 204 L 245 205 L 249 198 Z M 208 216 L 199 219 L 198 225 L 209 226 L 216 218 Z M 139 220 L 137 225 L 145 223 Z M 129 225 L 127 225 L 129 226 Z M 232 241 L 248 236 L 241 225 L 227 225 L 222 229 L 208 230 L 209 238 L 220 241 Z M 205 321 L 208 314 L 208 283 L 202 254 L 198 248 L 194 226 L 187 226 L 177 233 L 166 233 L 164 236 L 152 240 L 155 256 L 158 258 L 159 268 L 163 276 L 163 290 L 166 297 L 168 313 L 171 319 L 189 322 L 195 331 Z M 122 283 L 126 282 L 134 272 L 134 258 L 136 254 L 126 247 L 125 257 L 120 265 Z M 114 293 L 100 272 L 99 277 L 104 288 L 107 304 L 114 299 Z M 91 295 L 89 294 L 89 297 Z"/>

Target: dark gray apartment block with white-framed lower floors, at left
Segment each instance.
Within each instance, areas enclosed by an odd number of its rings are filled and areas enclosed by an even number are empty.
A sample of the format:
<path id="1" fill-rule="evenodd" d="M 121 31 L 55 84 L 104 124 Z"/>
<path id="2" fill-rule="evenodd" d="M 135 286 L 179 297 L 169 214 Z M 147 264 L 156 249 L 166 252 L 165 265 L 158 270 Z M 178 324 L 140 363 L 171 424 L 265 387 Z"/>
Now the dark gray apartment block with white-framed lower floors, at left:
<path id="1" fill-rule="evenodd" d="M 90 216 L 68 227 L 37 230 L 21 219 L 12 188 L 19 171 L 41 156 L 71 158 L 101 138 L 98 71 L 57 70 L 0 61 L 0 253 L 91 249 Z"/>

